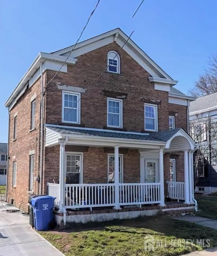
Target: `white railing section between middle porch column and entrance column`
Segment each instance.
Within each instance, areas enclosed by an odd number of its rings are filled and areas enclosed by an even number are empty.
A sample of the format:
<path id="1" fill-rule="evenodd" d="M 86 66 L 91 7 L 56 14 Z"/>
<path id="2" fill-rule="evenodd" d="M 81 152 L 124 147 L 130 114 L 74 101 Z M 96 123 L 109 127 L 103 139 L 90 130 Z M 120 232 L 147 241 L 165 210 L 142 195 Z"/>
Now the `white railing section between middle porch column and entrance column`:
<path id="1" fill-rule="evenodd" d="M 160 203 L 160 183 L 122 183 L 120 205 Z"/>

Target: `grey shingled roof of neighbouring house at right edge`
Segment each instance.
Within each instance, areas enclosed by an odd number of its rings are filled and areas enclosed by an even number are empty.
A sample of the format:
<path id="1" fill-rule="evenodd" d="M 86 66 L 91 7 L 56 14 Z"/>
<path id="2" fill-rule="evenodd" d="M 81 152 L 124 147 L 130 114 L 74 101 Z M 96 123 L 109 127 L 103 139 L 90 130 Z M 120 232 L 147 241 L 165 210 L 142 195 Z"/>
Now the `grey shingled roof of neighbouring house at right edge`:
<path id="1" fill-rule="evenodd" d="M 217 92 L 198 97 L 190 103 L 189 113 L 200 113 L 217 109 Z"/>

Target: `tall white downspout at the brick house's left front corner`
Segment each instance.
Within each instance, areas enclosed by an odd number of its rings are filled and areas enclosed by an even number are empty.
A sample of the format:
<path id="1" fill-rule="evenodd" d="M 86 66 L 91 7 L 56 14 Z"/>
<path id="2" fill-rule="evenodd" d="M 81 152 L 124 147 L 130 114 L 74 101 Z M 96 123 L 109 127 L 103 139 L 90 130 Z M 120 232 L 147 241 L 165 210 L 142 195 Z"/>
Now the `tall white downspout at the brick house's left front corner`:
<path id="1" fill-rule="evenodd" d="M 44 146 L 44 85 L 43 85 L 43 69 L 42 63 L 40 65 L 41 71 L 41 142 L 40 142 L 40 194 L 42 194 L 42 181 L 43 181 L 43 146 Z"/>

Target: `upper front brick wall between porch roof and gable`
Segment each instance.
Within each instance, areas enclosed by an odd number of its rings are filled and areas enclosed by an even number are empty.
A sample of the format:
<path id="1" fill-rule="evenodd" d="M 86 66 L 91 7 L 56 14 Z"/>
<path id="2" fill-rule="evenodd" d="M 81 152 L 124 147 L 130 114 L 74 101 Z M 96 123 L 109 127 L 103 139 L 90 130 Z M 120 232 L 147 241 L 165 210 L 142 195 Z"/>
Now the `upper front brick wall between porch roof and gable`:
<path id="1" fill-rule="evenodd" d="M 68 65 L 68 72 L 59 73 L 47 86 L 46 123 L 57 124 L 61 121 L 62 90 L 57 89 L 56 82 L 87 88 L 105 69 L 107 52 L 110 50 L 118 51 L 119 46 L 111 43 L 77 57 L 76 65 Z M 120 59 L 121 74 L 105 72 L 82 96 L 81 124 L 92 128 L 103 128 L 107 125 L 107 97 L 103 95 L 103 90 L 106 89 L 128 94 L 127 98 L 123 99 L 124 129 L 138 132 L 144 130 L 144 102 L 141 99 L 145 98 L 160 101 L 158 127 L 159 131 L 167 130 L 169 128 L 168 92 L 154 90 L 153 83 L 149 82 L 150 74 L 123 50 L 120 52 Z M 47 79 L 50 80 L 55 73 L 48 70 Z"/>

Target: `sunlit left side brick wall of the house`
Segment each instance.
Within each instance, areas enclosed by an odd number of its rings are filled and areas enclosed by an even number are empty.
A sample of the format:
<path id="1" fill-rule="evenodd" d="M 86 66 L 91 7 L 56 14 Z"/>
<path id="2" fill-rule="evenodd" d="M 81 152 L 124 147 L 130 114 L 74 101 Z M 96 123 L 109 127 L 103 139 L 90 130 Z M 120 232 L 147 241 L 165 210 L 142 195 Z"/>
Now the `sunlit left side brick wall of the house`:
<path id="1" fill-rule="evenodd" d="M 44 74 L 45 81 L 46 74 Z M 29 151 L 35 150 L 34 176 L 39 175 L 39 136 L 40 136 L 40 94 L 41 81 L 26 90 L 10 112 L 9 145 L 8 145 L 8 177 L 7 202 L 14 199 L 14 204 L 22 210 L 28 210 L 29 189 Z M 31 125 L 31 97 L 36 93 L 35 127 Z M 14 115 L 17 113 L 17 139 L 14 141 Z M 17 162 L 16 186 L 12 187 L 13 162 Z M 38 193 L 39 183 L 34 181 L 34 193 Z"/>

